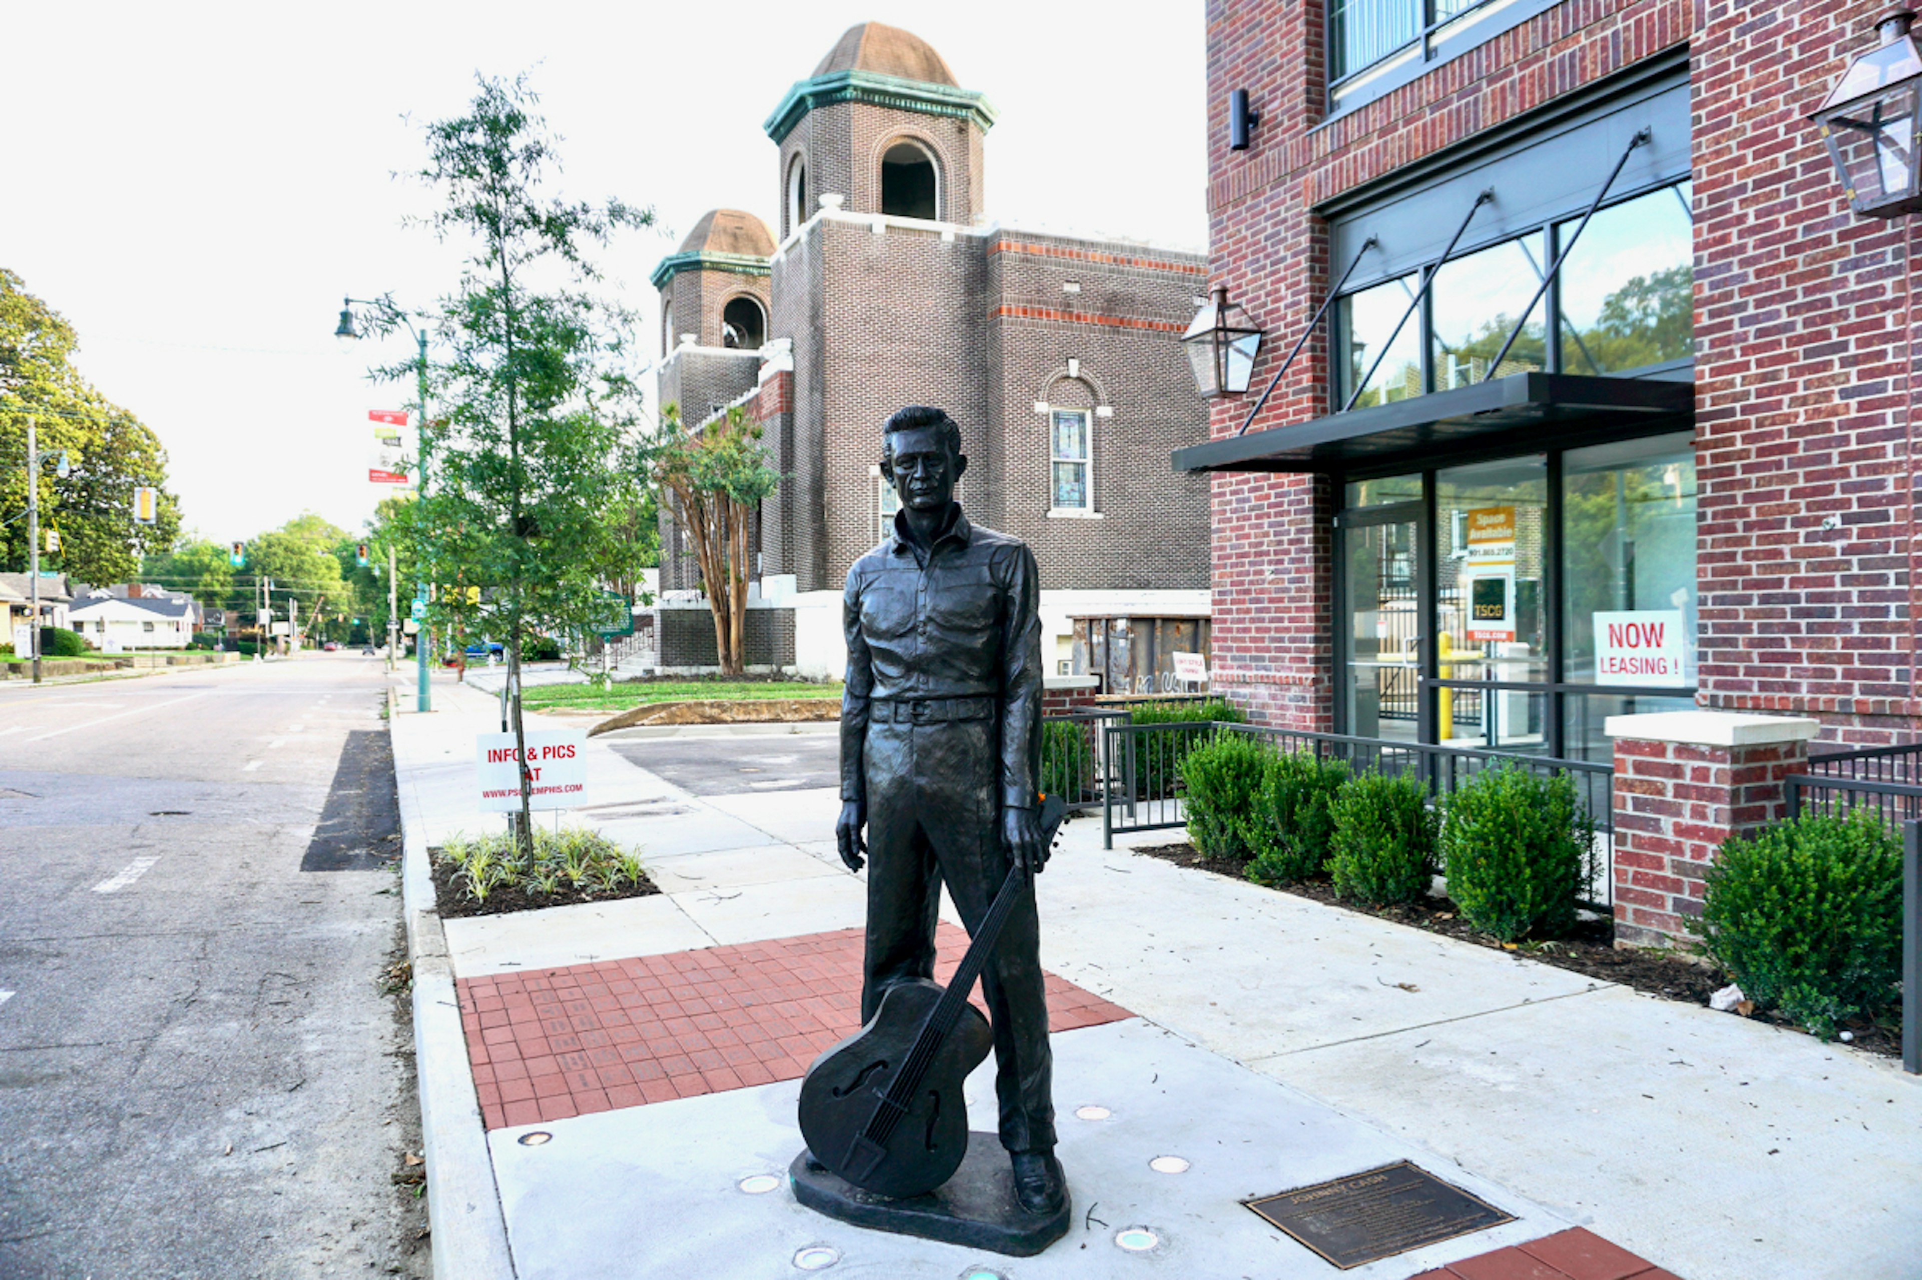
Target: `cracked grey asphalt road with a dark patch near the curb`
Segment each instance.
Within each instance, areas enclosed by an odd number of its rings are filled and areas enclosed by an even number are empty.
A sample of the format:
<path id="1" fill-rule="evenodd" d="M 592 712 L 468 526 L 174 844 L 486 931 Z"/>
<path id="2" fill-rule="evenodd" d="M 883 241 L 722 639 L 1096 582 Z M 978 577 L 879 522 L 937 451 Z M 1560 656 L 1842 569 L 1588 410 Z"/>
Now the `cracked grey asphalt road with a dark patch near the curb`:
<path id="1" fill-rule="evenodd" d="M 0 688 L 0 1276 L 425 1274 L 382 663 Z"/>

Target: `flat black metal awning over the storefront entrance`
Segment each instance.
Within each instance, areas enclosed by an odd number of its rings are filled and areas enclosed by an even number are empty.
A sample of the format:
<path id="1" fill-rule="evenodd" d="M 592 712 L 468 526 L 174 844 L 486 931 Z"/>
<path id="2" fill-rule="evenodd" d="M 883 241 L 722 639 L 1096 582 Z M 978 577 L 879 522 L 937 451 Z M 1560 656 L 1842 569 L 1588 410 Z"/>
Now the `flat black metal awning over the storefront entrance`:
<path id="1" fill-rule="evenodd" d="M 1543 427 L 1566 434 L 1643 434 L 1695 409 L 1695 384 L 1584 373 L 1511 373 L 1455 390 L 1294 427 L 1251 431 L 1174 450 L 1176 471 L 1349 471 L 1515 444 L 1541 448 Z"/>

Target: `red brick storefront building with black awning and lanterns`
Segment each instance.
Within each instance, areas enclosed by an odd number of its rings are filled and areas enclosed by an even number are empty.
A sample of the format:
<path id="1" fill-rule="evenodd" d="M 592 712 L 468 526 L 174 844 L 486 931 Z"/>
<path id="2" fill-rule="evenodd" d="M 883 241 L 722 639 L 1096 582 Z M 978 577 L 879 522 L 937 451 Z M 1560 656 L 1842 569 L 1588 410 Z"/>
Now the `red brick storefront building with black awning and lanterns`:
<path id="1" fill-rule="evenodd" d="M 1678 932 L 1761 817 L 1691 807 L 1691 751 L 1726 786 L 1764 738 L 1922 738 L 1916 233 L 1811 121 L 1884 12 L 1207 4 L 1209 279 L 1265 334 L 1174 452 L 1213 482 L 1215 686 L 1613 761 L 1622 936 Z"/>

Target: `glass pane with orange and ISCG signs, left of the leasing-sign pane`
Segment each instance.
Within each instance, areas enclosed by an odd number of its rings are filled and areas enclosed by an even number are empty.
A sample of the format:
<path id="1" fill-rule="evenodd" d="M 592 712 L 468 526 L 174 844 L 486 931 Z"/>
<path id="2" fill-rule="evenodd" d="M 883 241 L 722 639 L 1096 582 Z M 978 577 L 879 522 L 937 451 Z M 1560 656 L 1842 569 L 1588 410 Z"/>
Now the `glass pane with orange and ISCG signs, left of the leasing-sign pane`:
<path id="1" fill-rule="evenodd" d="M 1547 457 L 1436 473 L 1436 667 L 1443 680 L 1547 678 L 1543 561 Z M 1543 698 L 1440 690 L 1440 736 L 1455 746 L 1543 750 Z"/>

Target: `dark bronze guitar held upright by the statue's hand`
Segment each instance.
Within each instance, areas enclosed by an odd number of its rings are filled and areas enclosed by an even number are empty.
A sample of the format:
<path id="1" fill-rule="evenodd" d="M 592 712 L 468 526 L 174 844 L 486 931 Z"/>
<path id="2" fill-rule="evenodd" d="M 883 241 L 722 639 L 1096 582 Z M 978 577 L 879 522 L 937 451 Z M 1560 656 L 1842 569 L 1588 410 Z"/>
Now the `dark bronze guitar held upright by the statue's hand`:
<path id="1" fill-rule="evenodd" d="M 1042 849 L 1053 848 L 1065 817 L 1059 796 L 1042 796 Z M 994 1047 L 988 1019 L 967 997 L 1024 884 L 1026 873 L 1011 867 L 946 988 L 926 978 L 890 986 L 867 1026 L 807 1069 L 801 1138 L 848 1182 L 876 1195 L 923 1195 L 961 1169 L 961 1084 Z"/>

